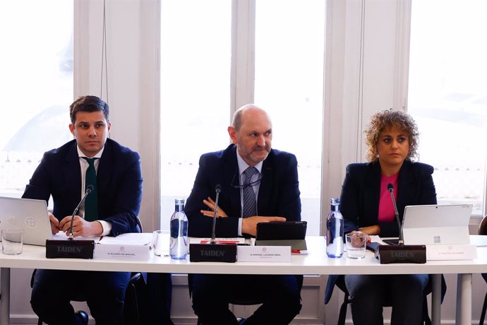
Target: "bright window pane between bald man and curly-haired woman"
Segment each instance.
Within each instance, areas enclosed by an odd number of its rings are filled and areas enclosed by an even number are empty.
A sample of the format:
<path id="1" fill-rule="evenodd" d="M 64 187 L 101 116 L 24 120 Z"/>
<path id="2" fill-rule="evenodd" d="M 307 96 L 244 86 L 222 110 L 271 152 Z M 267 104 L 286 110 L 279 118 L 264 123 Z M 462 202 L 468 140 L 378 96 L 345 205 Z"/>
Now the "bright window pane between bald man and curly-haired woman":
<path id="1" fill-rule="evenodd" d="M 320 235 L 325 1 L 258 1 L 255 25 L 255 102 L 272 117 L 272 147 L 298 159 L 301 218 Z"/>

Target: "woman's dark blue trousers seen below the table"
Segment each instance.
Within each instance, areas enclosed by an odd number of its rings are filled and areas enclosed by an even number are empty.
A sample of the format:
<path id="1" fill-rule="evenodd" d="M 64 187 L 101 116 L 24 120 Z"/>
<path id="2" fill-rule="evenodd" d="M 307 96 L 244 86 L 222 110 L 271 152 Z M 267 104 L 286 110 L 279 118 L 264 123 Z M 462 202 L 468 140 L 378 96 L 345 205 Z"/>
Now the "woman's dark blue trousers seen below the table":
<path id="1" fill-rule="evenodd" d="M 383 306 L 392 306 L 391 325 L 421 324 L 427 283 L 426 274 L 345 276 L 354 324 L 383 324 Z"/>

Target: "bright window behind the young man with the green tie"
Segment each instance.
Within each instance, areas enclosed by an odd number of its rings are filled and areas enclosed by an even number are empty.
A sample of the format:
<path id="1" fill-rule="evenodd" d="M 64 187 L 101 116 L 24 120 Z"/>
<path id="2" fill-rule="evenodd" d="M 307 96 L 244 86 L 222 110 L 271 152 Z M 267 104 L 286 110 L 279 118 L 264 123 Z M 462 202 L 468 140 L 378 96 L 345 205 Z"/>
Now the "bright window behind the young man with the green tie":
<path id="1" fill-rule="evenodd" d="M 19 196 L 42 153 L 71 139 L 73 1 L 1 1 L 0 40 L 0 193 Z"/>

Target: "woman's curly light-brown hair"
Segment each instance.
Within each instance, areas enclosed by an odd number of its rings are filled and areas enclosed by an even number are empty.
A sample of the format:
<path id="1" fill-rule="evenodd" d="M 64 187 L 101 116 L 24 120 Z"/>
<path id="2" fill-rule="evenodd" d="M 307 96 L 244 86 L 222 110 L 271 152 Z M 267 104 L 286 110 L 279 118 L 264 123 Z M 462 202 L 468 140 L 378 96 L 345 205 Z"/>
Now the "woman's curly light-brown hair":
<path id="1" fill-rule="evenodd" d="M 414 160 L 418 158 L 419 131 L 416 122 L 411 115 L 391 109 L 376 112 L 371 117 L 371 122 L 363 133 L 366 136 L 367 160 L 374 162 L 377 157 L 377 143 L 382 131 L 390 126 L 406 132 L 409 136 L 409 154 L 406 159 Z"/>

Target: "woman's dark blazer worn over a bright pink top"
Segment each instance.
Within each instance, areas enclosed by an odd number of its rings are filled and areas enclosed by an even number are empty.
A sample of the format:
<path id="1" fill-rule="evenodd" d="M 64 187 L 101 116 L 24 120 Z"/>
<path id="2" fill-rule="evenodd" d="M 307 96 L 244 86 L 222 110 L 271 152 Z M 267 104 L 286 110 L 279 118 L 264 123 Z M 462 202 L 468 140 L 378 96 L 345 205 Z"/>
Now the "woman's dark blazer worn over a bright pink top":
<path id="1" fill-rule="evenodd" d="M 433 167 L 421 162 L 404 160 L 397 177 L 397 211 L 402 223 L 405 206 L 436 204 Z M 370 225 L 380 226 L 381 237 L 398 237 L 396 221 L 378 223 L 380 197 L 380 165 L 378 162 L 356 163 L 347 166 L 347 174 L 340 195 L 340 211 L 344 217 L 344 232 Z M 325 290 L 325 303 L 330 301 L 339 276 L 330 275 Z M 446 286 L 442 285 L 442 294 Z M 442 295 L 442 299 L 443 299 Z"/>

